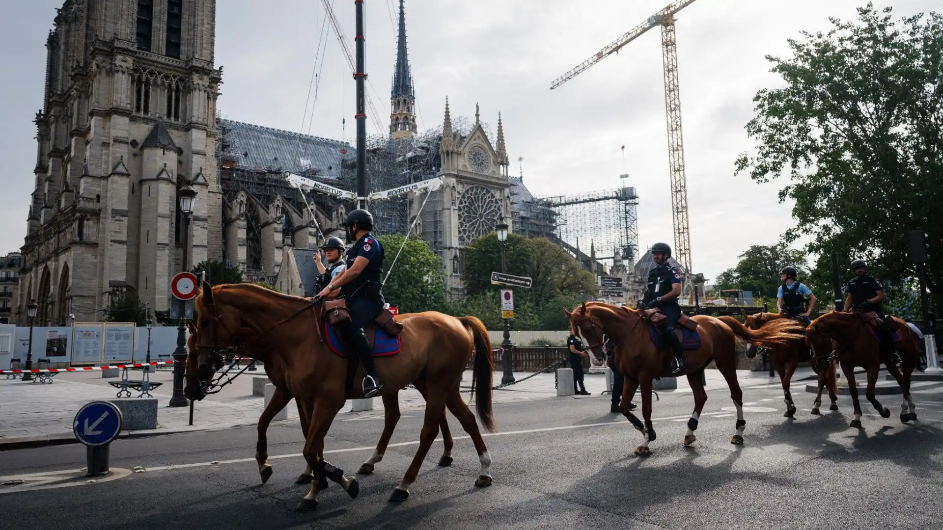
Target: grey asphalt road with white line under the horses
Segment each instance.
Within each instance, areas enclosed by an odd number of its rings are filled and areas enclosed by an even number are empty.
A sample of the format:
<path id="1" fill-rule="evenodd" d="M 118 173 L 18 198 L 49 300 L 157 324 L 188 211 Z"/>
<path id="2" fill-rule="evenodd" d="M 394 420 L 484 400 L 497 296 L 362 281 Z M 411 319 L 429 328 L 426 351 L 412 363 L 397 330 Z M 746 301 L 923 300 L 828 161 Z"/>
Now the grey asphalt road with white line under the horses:
<path id="1" fill-rule="evenodd" d="M 0 528 L 943 527 L 943 385 L 914 394 L 916 424 L 898 420 L 899 395 L 879 396 L 892 416 L 881 419 L 865 406 L 862 430 L 848 426 L 845 396 L 839 411 L 826 406 L 823 416 L 810 415 L 812 394 L 803 386 L 793 388 L 795 420 L 783 418 L 781 389 L 745 390 L 743 446 L 730 444 L 736 416 L 726 389 L 709 391 L 691 448 L 682 446 L 691 395 L 662 394 L 648 457 L 633 455 L 641 435 L 608 414 L 608 396 L 498 406 L 500 432 L 486 438 L 490 488 L 473 486 L 479 463 L 469 439 L 456 439 L 449 468 L 436 466 L 437 441 L 412 496 L 393 504 L 389 494 L 416 449 L 422 421 L 422 411 L 408 411 L 392 440 L 402 445 L 391 447 L 372 475 L 358 475 L 359 497 L 331 484 L 317 510 L 306 513 L 293 510 L 306 492 L 294 484 L 304 467 L 295 424 L 270 430 L 270 455 L 285 457 L 270 460 L 274 474 L 265 485 L 252 460 L 254 428 L 120 439 L 111 445 L 117 472 L 108 480 L 34 474 L 25 484 L 0 486 Z M 372 455 L 381 430 L 382 421 L 365 418 L 339 418 L 327 441 L 326 458 L 348 474 Z M 450 418 L 453 434 L 464 436 Z M 85 449 L 77 444 L 0 452 L 4 481 L 84 466 Z M 138 466 L 147 471 L 129 472 Z"/>

